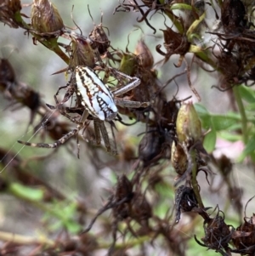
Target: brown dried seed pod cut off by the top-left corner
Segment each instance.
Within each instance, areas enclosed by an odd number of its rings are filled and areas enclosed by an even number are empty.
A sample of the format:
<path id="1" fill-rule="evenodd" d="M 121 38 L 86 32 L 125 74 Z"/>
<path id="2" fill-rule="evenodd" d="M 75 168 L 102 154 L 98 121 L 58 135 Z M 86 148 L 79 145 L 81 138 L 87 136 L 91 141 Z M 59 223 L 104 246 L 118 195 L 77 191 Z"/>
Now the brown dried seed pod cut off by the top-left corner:
<path id="1" fill-rule="evenodd" d="M 20 13 L 20 0 L 2 0 L 0 6 L 0 21 L 10 27 L 18 28 L 19 23 L 15 20 L 14 15 Z"/>

